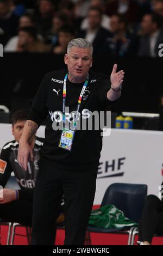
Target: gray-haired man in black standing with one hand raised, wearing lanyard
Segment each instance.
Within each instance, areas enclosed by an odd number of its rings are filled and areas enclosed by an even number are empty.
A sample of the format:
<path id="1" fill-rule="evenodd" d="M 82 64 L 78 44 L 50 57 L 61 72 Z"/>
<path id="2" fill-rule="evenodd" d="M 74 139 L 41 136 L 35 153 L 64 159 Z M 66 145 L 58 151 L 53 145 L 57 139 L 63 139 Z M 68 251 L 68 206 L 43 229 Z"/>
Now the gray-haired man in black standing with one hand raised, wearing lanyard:
<path id="1" fill-rule="evenodd" d="M 114 65 L 111 84 L 107 77 L 91 72 L 89 41 L 81 38 L 70 41 L 65 63 L 67 70 L 52 71 L 43 78 L 19 144 L 18 162 L 27 169 L 28 141 L 48 114 L 35 182 L 32 245 L 53 245 L 56 214 L 63 193 L 64 245 L 84 245 L 96 191 L 102 136 L 101 130 L 76 129 L 77 122 L 86 110 L 99 112 L 121 95 L 123 70 L 116 72 L 117 64 Z M 65 125 L 67 106 L 70 113 L 76 111 L 74 118 L 70 118 L 72 128 Z M 62 130 L 54 129 L 53 123 L 57 121 L 63 124 Z"/>

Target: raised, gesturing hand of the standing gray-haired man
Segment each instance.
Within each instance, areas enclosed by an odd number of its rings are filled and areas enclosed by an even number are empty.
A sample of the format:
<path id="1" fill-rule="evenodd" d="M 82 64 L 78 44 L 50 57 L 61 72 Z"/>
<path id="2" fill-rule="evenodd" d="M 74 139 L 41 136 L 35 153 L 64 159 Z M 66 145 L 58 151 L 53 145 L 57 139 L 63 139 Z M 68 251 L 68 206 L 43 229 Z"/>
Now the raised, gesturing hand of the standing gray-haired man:
<path id="1" fill-rule="evenodd" d="M 112 87 L 115 90 L 118 90 L 123 82 L 124 71 L 123 70 L 120 70 L 118 72 L 116 71 L 117 71 L 117 64 L 114 64 L 111 72 L 111 76 L 110 76 L 110 81 L 111 81 Z"/>

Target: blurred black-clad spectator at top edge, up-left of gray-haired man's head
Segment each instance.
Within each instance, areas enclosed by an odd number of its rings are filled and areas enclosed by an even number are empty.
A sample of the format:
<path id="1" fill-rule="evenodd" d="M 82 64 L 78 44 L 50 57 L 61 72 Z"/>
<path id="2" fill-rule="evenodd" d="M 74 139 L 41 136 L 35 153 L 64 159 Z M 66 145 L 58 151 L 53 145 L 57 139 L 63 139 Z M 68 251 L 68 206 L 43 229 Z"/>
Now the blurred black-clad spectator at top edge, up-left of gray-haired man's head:
<path id="1" fill-rule="evenodd" d="M 52 27 L 55 5 L 53 0 L 39 0 L 38 10 L 35 13 L 37 32 L 42 35 L 45 42 Z"/>

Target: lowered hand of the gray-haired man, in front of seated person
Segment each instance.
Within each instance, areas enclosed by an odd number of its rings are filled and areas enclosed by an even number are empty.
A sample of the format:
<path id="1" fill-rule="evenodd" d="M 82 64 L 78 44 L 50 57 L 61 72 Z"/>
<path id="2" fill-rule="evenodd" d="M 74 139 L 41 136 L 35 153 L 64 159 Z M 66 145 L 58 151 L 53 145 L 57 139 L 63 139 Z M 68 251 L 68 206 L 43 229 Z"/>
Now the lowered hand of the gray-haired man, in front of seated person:
<path id="1" fill-rule="evenodd" d="M 20 139 L 17 161 L 24 170 L 27 170 L 29 157 L 33 161 L 33 150 L 30 148 L 28 142 L 22 142 Z"/>

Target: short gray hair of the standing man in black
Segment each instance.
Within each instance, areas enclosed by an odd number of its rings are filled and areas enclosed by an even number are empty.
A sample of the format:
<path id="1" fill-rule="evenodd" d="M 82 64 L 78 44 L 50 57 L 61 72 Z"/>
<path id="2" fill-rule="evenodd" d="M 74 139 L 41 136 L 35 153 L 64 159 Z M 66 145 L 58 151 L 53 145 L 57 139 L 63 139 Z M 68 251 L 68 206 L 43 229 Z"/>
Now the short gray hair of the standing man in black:
<path id="1" fill-rule="evenodd" d="M 87 41 L 84 38 L 75 38 L 75 39 L 72 39 L 70 42 L 68 42 L 67 53 L 69 53 L 70 48 L 72 48 L 73 46 L 78 48 L 90 48 L 91 55 L 93 53 L 93 46 L 91 42 Z"/>

